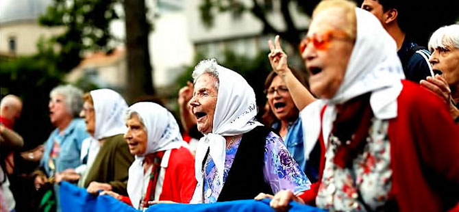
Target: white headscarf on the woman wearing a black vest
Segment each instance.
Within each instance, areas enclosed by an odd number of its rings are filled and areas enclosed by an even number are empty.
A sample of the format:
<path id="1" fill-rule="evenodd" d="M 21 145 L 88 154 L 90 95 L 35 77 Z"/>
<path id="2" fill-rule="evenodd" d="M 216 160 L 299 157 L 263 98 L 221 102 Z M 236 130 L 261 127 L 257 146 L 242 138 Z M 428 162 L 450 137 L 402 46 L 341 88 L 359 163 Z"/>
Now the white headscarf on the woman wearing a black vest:
<path id="1" fill-rule="evenodd" d="M 200 69 L 216 70 L 219 77 L 219 92 L 212 133 L 201 137 L 197 145 L 195 158 L 197 187 L 191 203 L 202 202 L 203 173 L 201 170 L 208 148 L 218 172 L 218 181 L 223 185 L 226 157 L 226 140 L 223 136 L 240 135 L 262 125 L 255 120 L 257 114 L 255 92 L 242 76 L 220 66 L 215 59 L 203 60 L 195 67 L 195 72 Z"/>

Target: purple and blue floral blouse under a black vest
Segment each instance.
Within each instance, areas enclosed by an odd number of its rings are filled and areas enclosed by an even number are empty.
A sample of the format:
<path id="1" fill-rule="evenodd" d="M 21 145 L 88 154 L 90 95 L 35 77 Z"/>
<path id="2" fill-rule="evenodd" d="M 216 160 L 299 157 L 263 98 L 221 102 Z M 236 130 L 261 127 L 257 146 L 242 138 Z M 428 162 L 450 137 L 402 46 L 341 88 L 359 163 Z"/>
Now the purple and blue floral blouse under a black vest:
<path id="1" fill-rule="evenodd" d="M 241 140 L 242 138 L 227 146 L 223 184 L 233 164 Z M 223 185 L 219 185 L 218 176 L 220 173 L 216 171 L 215 163 L 210 155 L 206 160 L 204 168 L 204 202 L 216 202 Z M 264 181 L 271 185 L 274 193 L 277 193 L 281 189 L 290 189 L 297 194 L 310 189 L 311 183 L 308 177 L 301 171 L 295 159 L 288 153 L 284 142 L 282 142 L 282 138 L 273 132 L 266 136 L 263 174 Z"/>

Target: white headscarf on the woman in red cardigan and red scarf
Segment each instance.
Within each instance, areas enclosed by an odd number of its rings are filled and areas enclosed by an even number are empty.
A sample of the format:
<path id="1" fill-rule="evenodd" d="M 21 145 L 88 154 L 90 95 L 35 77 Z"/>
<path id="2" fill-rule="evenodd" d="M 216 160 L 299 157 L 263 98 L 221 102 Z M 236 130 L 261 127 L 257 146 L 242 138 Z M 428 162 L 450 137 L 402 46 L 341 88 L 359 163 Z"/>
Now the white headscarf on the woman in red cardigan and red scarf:
<path id="1" fill-rule="evenodd" d="M 127 194 L 129 194 L 132 205 L 138 209 L 142 196 L 145 155 L 181 146 L 187 147 L 188 144 L 183 141 L 175 118 L 166 108 L 156 103 L 145 102 L 132 105 L 127 109 L 127 113 L 129 111 L 135 111 L 138 114 L 147 130 L 147 150 L 142 155 L 136 155 L 134 163 L 129 167 L 127 180 Z M 161 166 L 167 167 L 167 164 L 161 163 Z"/>

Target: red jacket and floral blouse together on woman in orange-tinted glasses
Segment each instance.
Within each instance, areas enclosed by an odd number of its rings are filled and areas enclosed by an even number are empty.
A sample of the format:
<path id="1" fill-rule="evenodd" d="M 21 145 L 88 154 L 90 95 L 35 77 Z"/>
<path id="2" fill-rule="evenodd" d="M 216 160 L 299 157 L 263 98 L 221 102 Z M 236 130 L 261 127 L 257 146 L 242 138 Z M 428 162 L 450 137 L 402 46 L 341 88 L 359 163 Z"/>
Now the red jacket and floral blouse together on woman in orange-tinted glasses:
<path id="1" fill-rule="evenodd" d="M 336 148 L 351 145 L 332 129 L 321 161 L 321 181 L 300 197 L 338 211 L 453 207 L 459 200 L 459 129 L 446 105 L 409 81 L 403 81 L 397 105 L 397 118 L 373 117 L 363 151 L 348 161 L 336 159 Z"/>

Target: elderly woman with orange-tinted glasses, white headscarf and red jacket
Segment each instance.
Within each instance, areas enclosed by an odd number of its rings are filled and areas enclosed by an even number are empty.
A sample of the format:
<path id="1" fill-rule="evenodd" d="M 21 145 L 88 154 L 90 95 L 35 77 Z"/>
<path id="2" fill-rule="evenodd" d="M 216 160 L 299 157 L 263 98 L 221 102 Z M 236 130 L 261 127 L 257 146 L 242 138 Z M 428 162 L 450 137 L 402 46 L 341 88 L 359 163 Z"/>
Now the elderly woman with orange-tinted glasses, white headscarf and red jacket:
<path id="1" fill-rule="evenodd" d="M 281 61 L 278 43 L 271 52 Z M 459 131 L 438 97 L 401 81 L 396 52 L 353 3 L 321 1 L 314 10 L 301 53 L 320 99 L 301 117 L 305 142 L 319 140 L 326 157 L 304 200 L 336 211 L 446 211 L 457 202 Z M 291 199 L 299 200 L 282 191 L 271 206 Z"/>

